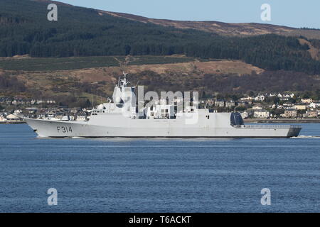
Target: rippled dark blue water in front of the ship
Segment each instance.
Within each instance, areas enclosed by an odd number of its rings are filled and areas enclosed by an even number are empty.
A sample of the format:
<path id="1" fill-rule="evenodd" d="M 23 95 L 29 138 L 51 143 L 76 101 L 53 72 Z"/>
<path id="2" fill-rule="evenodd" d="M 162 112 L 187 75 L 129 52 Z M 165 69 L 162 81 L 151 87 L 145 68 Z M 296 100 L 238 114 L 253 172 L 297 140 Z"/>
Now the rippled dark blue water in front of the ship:
<path id="1" fill-rule="evenodd" d="M 92 140 L 0 125 L 0 211 L 319 212 L 320 124 L 303 126 L 300 138 Z"/>

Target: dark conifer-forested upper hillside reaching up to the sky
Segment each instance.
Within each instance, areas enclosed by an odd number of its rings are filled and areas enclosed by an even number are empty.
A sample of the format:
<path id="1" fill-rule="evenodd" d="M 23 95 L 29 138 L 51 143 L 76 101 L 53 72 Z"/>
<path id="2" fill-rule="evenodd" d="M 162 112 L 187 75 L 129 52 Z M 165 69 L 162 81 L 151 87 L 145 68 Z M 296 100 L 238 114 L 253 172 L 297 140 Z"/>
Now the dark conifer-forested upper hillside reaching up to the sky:
<path id="1" fill-rule="evenodd" d="M 46 0 L 0 1 L 0 57 L 186 55 L 241 60 L 264 70 L 320 74 L 320 62 L 314 57 L 319 48 L 309 51 L 309 43 L 313 45 L 314 40 L 303 43 L 294 37 L 274 34 L 289 33 L 292 28 L 219 23 L 221 31 L 213 33 L 201 29 L 196 22 L 193 26 L 196 29 L 175 28 L 68 4 L 59 4 L 58 21 L 49 22 L 48 3 Z M 243 34 L 252 35 L 223 35 L 238 31 L 234 26 Z"/>

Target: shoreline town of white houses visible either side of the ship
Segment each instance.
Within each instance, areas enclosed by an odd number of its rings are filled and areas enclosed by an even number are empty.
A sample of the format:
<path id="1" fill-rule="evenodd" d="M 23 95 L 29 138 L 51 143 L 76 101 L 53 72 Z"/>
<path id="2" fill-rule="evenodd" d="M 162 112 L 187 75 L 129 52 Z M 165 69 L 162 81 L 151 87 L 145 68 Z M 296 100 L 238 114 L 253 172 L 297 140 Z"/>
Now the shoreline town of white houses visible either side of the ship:
<path id="1" fill-rule="evenodd" d="M 238 111 L 244 119 L 319 119 L 320 101 L 296 94 L 256 94 L 233 99 L 201 99 L 200 108 L 213 112 Z M 0 123 L 22 123 L 17 115 L 56 121 L 87 121 L 92 104 L 87 108 L 59 106 L 54 99 L 0 97 Z"/>

